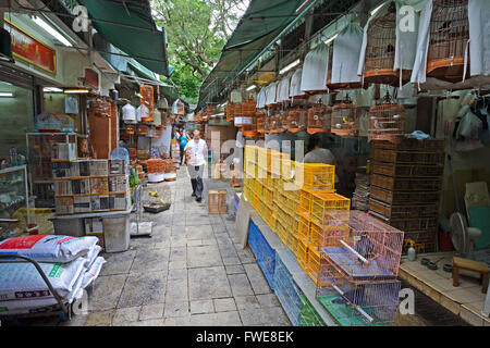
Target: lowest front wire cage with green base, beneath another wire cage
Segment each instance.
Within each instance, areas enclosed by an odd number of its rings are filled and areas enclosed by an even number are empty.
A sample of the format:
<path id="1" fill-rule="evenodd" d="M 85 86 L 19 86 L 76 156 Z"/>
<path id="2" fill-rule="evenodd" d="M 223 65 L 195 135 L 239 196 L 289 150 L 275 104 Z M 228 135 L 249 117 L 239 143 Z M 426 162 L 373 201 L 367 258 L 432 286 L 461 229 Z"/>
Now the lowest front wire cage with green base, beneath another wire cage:
<path id="1" fill-rule="evenodd" d="M 400 304 L 400 281 L 317 286 L 316 297 L 341 326 L 390 326 Z"/>

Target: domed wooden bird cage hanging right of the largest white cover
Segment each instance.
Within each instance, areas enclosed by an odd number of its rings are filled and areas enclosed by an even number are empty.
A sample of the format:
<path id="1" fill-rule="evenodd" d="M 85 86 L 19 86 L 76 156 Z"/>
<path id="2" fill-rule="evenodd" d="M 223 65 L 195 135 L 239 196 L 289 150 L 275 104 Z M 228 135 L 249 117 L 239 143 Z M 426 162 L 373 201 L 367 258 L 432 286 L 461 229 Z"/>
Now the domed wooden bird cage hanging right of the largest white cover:
<path id="1" fill-rule="evenodd" d="M 396 47 L 396 7 L 389 5 L 388 13 L 371 21 L 367 30 L 364 80 L 371 84 L 400 85 L 400 71 L 393 71 Z M 402 84 L 411 78 L 411 71 L 402 73 Z"/>

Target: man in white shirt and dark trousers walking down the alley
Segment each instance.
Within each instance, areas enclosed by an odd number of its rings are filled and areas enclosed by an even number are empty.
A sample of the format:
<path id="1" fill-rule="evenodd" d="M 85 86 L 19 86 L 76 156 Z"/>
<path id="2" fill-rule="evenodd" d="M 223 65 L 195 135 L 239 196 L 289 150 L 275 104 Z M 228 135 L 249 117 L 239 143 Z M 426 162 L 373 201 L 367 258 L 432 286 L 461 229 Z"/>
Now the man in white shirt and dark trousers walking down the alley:
<path id="1" fill-rule="evenodd" d="M 205 158 L 208 156 L 208 146 L 200 138 L 200 132 L 194 130 L 193 140 L 189 140 L 184 148 L 187 158 L 187 170 L 191 175 L 191 184 L 193 185 L 193 197 L 200 202 L 203 199 L 203 172 L 206 163 Z"/>

